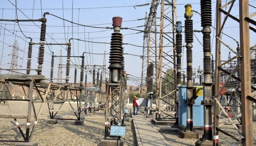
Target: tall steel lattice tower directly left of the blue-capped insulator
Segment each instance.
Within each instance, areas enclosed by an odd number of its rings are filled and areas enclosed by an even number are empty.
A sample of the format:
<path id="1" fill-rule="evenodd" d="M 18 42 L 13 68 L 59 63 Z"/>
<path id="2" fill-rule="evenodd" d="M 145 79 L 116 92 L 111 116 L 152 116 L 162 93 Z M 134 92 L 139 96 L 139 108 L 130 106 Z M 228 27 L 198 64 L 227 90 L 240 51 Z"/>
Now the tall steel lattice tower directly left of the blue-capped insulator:
<path id="1" fill-rule="evenodd" d="M 170 14 L 171 17 L 170 17 Z M 158 61 L 157 84 L 159 92 L 157 99 L 164 99 L 174 107 L 174 99 L 176 99 L 176 53 L 175 53 L 175 23 L 176 16 L 176 0 L 161 1 L 161 18 L 160 18 L 160 37 L 159 52 L 156 60 Z M 171 80 L 166 80 L 171 78 Z M 161 106 L 160 100 L 158 100 Z M 160 112 L 160 108 L 159 111 Z M 160 113 L 158 113 L 160 114 Z"/>

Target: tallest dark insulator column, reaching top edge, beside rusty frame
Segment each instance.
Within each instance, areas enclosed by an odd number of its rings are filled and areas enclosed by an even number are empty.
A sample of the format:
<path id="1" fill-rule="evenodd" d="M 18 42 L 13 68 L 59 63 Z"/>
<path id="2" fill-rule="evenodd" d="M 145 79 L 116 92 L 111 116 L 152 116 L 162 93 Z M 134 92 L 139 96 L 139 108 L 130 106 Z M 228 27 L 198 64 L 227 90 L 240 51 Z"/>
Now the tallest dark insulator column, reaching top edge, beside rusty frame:
<path id="1" fill-rule="evenodd" d="M 211 0 L 200 0 L 201 8 L 201 26 L 203 27 L 203 101 L 204 105 L 204 125 L 207 129 L 204 130 L 202 141 L 212 141 L 212 82 L 211 82 Z M 214 138 L 216 141 L 216 137 Z"/>

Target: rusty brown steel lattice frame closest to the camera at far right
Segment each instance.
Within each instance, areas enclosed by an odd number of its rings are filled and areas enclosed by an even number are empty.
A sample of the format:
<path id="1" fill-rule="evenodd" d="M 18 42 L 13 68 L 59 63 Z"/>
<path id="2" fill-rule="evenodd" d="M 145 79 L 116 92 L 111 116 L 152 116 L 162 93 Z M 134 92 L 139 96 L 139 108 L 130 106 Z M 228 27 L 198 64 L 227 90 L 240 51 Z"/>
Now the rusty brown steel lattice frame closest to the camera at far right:
<path id="1" fill-rule="evenodd" d="M 248 0 L 240 0 L 239 1 L 239 11 L 240 11 L 240 18 L 234 18 L 234 16 L 232 16 L 230 14 L 230 11 L 232 9 L 232 6 L 234 4 L 234 0 L 231 0 L 229 3 L 222 5 L 221 0 L 217 1 L 217 5 L 216 5 L 216 9 L 218 9 L 217 11 L 217 23 L 216 23 L 216 57 L 215 57 L 215 61 L 216 61 L 216 65 L 215 65 L 215 95 L 214 95 L 214 134 L 213 134 L 213 145 L 218 146 L 218 135 L 219 135 L 219 131 L 229 135 L 231 138 L 233 138 L 235 141 L 237 141 L 235 144 L 239 144 L 242 143 L 242 145 L 253 145 L 253 138 L 252 138 L 252 103 L 251 101 L 249 101 L 248 99 L 246 99 L 246 97 L 251 95 L 251 88 L 253 88 L 251 86 L 251 72 L 250 72 L 250 50 L 248 48 L 250 48 L 249 46 L 249 35 L 244 35 L 244 34 L 249 34 L 249 29 L 253 30 L 253 27 L 249 27 L 249 23 L 248 21 L 246 21 L 246 17 L 249 16 L 249 2 Z M 230 8 L 228 10 L 228 12 L 224 12 L 223 11 L 223 7 L 226 7 L 227 5 L 230 5 Z M 221 21 L 221 13 L 224 13 L 226 16 L 224 18 L 224 21 Z M 232 49 L 229 45 L 227 45 L 225 42 L 223 42 L 221 40 L 221 31 L 222 28 L 224 27 L 226 20 L 228 17 L 231 17 L 232 19 L 235 19 L 239 22 L 240 24 L 240 49 L 237 49 L 237 52 L 234 51 L 234 49 Z M 229 60 L 221 63 L 221 43 L 226 46 L 227 48 L 229 48 L 233 53 L 235 53 L 238 57 L 238 63 L 236 65 L 236 67 L 232 70 L 232 72 L 230 73 L 229 71 L 226 71 L 225 68 L 225 64 L 232 64 L 232 60 L 236 57 L 229 57 Z M 241 50 L 241 53 L 239 52 Z M 231 63 L 230 63 L 231 62 Z M 241 64 L 240 64 L 241 62 Z M 235 74 L 236 70 L 240 69 L 241 66 L 241 79 L 240 79 L 240 74 Z M 224 86 L 220 87 L 220 81 L 221 81 L 221 76 L 222 74 L 228 74 L 228 76 L 225 79 L 225 83 Z M 237 76 L 238 77 L 237 77 Z M 236 79 L 236 81 L 231 81 L 229 82 L 230 78 L 234 78 Z M 241 81 L 241 90 L 240 90 L 240 85 L 239 85 L 239 81 Z M 229 82 L 229 84 L 227 84 L 227 82 Z M 232 83 L 233 82 L 233 83 Z M 229 113 L 226 112 L 225 106 L 222 106 L 220 103 L 220 99 L 219 99 L 219 95 L 222 89 L 226 88 L 226 87 L 230 87 L 231 85 L 234 84 L 238 84 L 238 86 L 236 86 L 234 89 L 236 89 L 234 92 L 238 93 L 238 95 L 234 95 L 232 94 L 232 96 L 230 96 L 233 99 L 237 99 L 237 97 L 240 97 L 241 100 L 241 114 L 238 113 L 237 115 L 234 115 L 232 118 L 229 117 Z M 227 86 L 229 85 L 229 86 Z M 253 88 L 254 89 L 254 88 Z M 241 92 L 240 92 L 241 91 Z M 227 96 L 227 91 L 225 93 L 225 95 Z M 233 97 L 235 96 L 235 97 Z M 227 97 L 226 97 L 227 98 Z M 238 101 L 239 102 L 239 101 Z M 227 100 L 227 105 L 229 104 L 229 101 Z M 253 107 L 255 108 L 255 107 Z M 223 112 L 228 120 L 226 120 L 224 123 L 219 123 L 219 109 L 221 109 L 221 112 Z M 231 108 L 232 110 L 232 108 Z M 237 125 L 234 124 L 235 119 L 239 118 L 241 116 L 241 124 L 242 124 L 242 132 L 240 132 L 240 130 L 238 130 Z M 229 133 L 221 130 L 221 126 L 223 126 L 224 124 L 228 124 L 231 123 L 234 128 L 237 130 L 237 133 L 240 135 L 240 138 L 234 138 L 234 135 L 230 135 Z"/>

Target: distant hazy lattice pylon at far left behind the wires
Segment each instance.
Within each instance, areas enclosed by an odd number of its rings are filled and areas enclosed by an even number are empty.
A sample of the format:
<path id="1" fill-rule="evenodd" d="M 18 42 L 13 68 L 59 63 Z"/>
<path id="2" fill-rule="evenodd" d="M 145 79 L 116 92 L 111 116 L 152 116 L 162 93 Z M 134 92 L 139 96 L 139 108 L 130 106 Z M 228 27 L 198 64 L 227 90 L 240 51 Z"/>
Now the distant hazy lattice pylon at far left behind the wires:
<path id="1" fill-rule="evenodd" d="M 18 66 L 18 50 L 19 50 L 19 44 L 17 40 L 15 40 L 14 44 L 12 45 L 12 61 L 11 61 L 11 67 L 10 69 L 17 69 Z M 16 72 L 9 72 L 8 74 L 17 74 Z"/>

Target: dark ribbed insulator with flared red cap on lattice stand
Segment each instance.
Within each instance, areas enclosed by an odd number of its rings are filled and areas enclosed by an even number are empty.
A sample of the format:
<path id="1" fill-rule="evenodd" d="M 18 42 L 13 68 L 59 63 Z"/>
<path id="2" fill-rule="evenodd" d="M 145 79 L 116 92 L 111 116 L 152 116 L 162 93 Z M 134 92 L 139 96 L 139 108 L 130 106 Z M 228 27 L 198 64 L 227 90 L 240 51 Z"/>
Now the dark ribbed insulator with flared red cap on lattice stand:
<path id="1" fill-rule="evenodd" d="M 122 47 L 122 34 L 120 28 L 122 24 L 121 17 L 113 17 L 114 32 L 111 36 L 110 42 L 110 54 L 109 54 L 109 69 L 110 69 L 110 82 L 118 82 L 121 77 L 123 59 L 123 47 Z"/>

